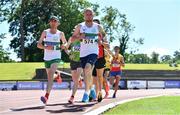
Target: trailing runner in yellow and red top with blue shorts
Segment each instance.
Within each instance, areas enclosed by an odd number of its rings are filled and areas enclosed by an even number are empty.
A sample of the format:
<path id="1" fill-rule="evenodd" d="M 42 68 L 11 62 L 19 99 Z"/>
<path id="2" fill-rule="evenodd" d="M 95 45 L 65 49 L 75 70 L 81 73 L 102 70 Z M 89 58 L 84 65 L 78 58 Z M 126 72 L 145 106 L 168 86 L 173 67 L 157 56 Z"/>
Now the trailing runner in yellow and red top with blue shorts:
<path id="1" fill-rule="evenodd" d="M 113 59 L 111 61 L 111 68 L 110 68 L 110 84 L 114 86 L 113 98 L 116 98 L 119 81 L 122 76 L 121 67 L 124 67 L 125 64 L 124 64 L 123 56 L 119 54 L 120 48 L 118 46 L 115 46 L 114 51 L 115 54 L 113 55 Z"/>

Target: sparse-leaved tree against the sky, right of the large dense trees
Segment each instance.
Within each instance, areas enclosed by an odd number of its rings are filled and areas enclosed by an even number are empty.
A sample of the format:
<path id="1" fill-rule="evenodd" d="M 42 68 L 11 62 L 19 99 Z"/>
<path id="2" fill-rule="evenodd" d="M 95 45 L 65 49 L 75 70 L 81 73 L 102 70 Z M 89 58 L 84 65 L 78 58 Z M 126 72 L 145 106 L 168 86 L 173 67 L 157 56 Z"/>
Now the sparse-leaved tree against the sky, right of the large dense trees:
<path id="1" fill-rule="evenodd" d="M 119 41 L 120 53 L 124 56 L 126 49 L 129 48 L 129 43 L 133 39 L 130 35 L 134 31 L 135 27 L 127 20 L 125 14 L 122 14 L 118 9 L 110 7 L 105 7 L 102 10 L 105 16 L 102 17 L 102 22 L 106 33 L 109 36 L 109 41 L 114 40 Z M 143 38 L 133 39 L 134 43 L 142 45 L 144 42 Z"/>

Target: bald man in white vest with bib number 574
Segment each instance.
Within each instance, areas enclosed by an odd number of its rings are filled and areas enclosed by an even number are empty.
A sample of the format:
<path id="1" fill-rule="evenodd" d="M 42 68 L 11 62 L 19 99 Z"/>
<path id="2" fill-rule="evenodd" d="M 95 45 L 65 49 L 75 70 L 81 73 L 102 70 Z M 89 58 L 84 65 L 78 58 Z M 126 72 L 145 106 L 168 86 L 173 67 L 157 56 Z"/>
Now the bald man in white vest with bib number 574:
<path id="1" fill-rule="evenodd" d="M 99 53 L 99 35 L 103 33 L 103 29 L 99 24 L 93 22 L 93 16 L 94 15 L 92 9 L 85 9 L 85 22 L 82 22 L 76 26 L 72 36 L 72 41 L 77 39 L 81 41 L 80 60 L 84 72 L 85 81 L 85 93 L 83 95 L 82 102 L 88 102 L 89 95 L 93 94 L 93 97 L 95 97 L 95 90 L 94 88 L 92 88 L 90 91 L 90 87 L 92 85 L 92 70 Z"/>

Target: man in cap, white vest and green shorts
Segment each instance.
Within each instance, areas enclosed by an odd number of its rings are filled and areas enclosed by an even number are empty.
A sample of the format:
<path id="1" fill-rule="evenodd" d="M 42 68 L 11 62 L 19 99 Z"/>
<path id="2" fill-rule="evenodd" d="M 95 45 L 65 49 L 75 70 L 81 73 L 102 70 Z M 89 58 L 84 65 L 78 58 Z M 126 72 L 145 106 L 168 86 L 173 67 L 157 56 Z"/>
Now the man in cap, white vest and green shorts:
<path id="1" fill-rule="evenodd" d="M 57 29 L 59 20 L 56 16 L 52 16 L 49 21 L 50 28 L 42 32 L 37 47 L 44 50 L 44 61 L 48 76 L 48 83 L 45 96 L 41 97 L 41 101 L 46 104 L 53 85 L 53 76 L 57 70 L 58 63 L 61 59 L 60 49 L 64 48 L 66 39 L 64 33 Z M 60 46 L 60 41 L 63 45 Z"/>

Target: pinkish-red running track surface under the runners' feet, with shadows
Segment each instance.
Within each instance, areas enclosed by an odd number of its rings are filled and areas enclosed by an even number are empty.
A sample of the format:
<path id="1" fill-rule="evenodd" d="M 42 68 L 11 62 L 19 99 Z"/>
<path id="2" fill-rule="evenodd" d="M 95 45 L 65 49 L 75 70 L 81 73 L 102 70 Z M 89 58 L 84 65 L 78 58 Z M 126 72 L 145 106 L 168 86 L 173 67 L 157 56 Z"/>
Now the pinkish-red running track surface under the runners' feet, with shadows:
<path id="1" fill-rule="evenodd" d="M 53 90 L 45 107 L 39 100 L 44 94 L 42 90 L 0 91 L 0 115 L 79 115 L 92 112 L 110 103 L 138 97 L 180 95 L 180 89 L 119 90 L 116 99 L 112 99 L 110 95 L 101 103 L 82 103 L 83 92 L 83 90 L 78 90 L 75 103 L 68 104 L 70 90 Z"/>

